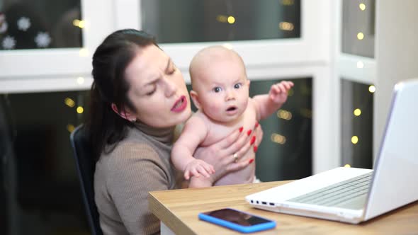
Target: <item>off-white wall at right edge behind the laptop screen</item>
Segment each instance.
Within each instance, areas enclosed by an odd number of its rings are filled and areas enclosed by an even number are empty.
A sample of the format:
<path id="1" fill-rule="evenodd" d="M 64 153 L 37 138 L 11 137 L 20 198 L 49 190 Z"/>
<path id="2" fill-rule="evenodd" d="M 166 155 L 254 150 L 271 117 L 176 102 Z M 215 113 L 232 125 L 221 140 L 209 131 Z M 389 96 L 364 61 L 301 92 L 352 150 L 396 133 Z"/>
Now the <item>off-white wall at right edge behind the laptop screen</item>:
<path id="1" fill-rule="evenodd" d="M 380 146 L 394 84 L 418 78 L 417 9 L 416 0 L 382 0 L 376 4 L 374 156 Z"/>

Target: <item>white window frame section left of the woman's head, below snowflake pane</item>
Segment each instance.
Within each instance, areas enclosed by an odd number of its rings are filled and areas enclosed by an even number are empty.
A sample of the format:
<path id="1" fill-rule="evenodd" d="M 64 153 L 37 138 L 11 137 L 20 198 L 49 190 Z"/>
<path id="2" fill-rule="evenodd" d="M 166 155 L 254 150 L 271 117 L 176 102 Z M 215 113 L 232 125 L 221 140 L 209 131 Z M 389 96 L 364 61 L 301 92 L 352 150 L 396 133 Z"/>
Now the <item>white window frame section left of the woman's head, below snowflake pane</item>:
<path id="1" fill-rule="evenodd" d="M 81 16 L 83 47 L 0 51 L 0 93 L 88 89 L 92 53 L 114 28 L 113 1 L 81 0 Z"/>

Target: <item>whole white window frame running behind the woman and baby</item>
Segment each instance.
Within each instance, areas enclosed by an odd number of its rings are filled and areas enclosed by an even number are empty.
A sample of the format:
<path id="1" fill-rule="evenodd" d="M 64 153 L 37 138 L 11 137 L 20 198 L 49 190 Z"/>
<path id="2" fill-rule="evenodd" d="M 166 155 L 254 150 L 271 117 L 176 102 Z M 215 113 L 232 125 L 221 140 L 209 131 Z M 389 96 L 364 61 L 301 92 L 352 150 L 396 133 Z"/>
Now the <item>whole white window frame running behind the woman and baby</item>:
<path id="1" fill-rule="evenodd" d="M 96 8 L 100 6 L 100 11 Z M 247 67 L 250 80 L 312 77 L 312 172 L 339 166 L 336 120 L 332 0 L 301 1 L 301 37 L 278 40 L 162 44 L 190 81 L 188 64 L 198 50 L 228 43 Z M 81 0 L 86 27 L 86 56 L 80 49 L 0 52 L 0 93 L 86 90 L 91 86 L 91 55 L 106 35 L 120 28 L 140 28 L 140 0 Z M 339 15 L 341 17 L 341 15 Z M 19 64 L 28 65 L 24 71 Z M 69 66 L 71 65 L 71 66 Z M 84 82 L 79 83 L 79 77 Z"/>

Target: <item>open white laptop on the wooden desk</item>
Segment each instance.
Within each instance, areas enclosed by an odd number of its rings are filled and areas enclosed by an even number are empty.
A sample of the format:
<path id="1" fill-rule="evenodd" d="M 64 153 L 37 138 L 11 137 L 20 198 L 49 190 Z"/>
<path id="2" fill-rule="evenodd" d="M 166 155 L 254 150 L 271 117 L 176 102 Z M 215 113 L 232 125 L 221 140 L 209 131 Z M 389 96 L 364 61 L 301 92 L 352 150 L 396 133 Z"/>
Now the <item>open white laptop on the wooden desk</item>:
<path id="1" fill-rule="evenodd" d="M 373 170 L 339 167 L 245 197 L 253 207 L 358 224 L 418 200 L 418 79 L 395 85 Z"/>

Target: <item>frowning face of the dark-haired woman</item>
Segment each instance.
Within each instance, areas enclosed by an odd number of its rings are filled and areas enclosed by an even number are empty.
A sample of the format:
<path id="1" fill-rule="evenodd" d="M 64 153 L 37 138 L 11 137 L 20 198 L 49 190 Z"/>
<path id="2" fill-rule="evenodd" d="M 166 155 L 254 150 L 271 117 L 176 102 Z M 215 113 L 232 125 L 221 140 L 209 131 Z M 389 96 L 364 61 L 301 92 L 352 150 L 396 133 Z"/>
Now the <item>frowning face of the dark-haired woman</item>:
<path id="1" fill-rule="evenodd" d="M 171 58 L 155 45 L 137 50 L 125 70 L 128 98 L 135 107 L 129 118 L 152 127 L 172 127 L 191 115 L 183 76 Z"/>

